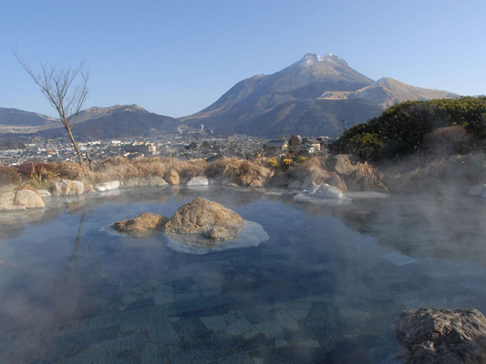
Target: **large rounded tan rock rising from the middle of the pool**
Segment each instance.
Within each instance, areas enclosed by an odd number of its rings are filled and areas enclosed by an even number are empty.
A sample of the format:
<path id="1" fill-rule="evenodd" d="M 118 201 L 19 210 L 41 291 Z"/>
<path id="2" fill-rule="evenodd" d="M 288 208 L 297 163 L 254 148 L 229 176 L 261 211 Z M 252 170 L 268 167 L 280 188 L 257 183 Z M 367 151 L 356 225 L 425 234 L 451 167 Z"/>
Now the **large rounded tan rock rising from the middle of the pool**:
<path id="1" fill-rule="evenodd" d="M 207 238 L 227 240 L 238 236 L 243 218 L 229 208 L 202 197 L 180 207 L 165 224 L 164 231 L 175 234 L 204 234 Z"/>

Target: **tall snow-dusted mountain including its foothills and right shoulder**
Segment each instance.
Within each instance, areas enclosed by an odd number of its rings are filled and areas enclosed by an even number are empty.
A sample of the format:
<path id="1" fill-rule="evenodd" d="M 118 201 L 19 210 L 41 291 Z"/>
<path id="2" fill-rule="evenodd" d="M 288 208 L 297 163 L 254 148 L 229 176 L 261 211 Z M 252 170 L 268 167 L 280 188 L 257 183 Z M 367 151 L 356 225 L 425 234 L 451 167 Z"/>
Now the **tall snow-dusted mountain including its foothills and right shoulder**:
<path id="1" fill-rule="evenodd" d="M 244 79 L 211 106 L 181 121 L 227 133 L 337 136 L 344 120 L 354 126 L 401 101 L 457 96 L 388 77 L 375 82 L 336 55 L 309 53 L 272 75 Z"/>

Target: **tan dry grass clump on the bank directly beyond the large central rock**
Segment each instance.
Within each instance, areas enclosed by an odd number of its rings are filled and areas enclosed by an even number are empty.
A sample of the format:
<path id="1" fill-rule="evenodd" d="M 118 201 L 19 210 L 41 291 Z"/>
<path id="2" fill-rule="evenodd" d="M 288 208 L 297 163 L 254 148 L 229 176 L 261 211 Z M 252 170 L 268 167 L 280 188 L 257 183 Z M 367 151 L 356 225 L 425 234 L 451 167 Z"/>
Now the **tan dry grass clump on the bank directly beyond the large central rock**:
<path id="1" fill-rule="evenodd" d="M 260 164 L 249 160 L 225 157 L 208 165 L 206 173 L 209 177 L 220 179 L 227 177 L 233 182 L 240 183 L 243 176 L 249 176 L 261 182 L 265 182 L 274 176 L 274 171 Z"/>

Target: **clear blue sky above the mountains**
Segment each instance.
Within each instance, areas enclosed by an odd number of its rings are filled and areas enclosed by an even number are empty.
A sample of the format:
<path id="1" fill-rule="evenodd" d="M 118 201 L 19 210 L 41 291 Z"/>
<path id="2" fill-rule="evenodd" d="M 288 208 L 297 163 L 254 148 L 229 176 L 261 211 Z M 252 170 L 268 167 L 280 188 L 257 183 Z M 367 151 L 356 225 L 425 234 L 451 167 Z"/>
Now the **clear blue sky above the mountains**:
<path id="1" fill-rule="evenodd" d="M 209 106 L 244 78 L 313 52 L 373 79 L 486 94 L 483 0 L 0 0 L 0 107 L 56 116 L 33 68 L 86 58 L 85 107 L 167 116 Z"/>

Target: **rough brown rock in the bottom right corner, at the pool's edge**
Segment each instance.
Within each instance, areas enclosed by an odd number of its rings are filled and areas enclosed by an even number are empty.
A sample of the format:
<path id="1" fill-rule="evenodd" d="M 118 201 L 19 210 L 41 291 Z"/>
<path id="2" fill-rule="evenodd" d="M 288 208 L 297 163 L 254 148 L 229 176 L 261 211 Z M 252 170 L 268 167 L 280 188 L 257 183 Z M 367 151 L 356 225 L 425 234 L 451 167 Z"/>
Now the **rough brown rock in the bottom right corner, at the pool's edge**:
<path id="1" fill-rule="evenodd" d="M 396 326 L 393 363 L 486 363 L 486 318 L 477 309 L 409 309 Z"/>

